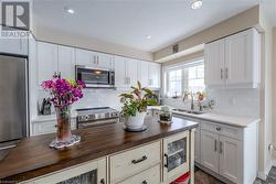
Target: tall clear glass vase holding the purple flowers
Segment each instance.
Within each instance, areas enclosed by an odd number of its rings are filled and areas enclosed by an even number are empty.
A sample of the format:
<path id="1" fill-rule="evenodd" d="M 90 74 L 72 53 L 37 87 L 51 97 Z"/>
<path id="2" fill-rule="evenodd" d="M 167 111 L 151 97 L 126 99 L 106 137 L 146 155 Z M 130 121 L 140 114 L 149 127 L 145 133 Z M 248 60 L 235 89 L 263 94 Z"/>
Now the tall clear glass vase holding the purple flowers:
<path id="1" fill-rule="evenodd" d="M 56 112 L 56 142 L 71 141 L 71 106 L 55 107 Z"/>

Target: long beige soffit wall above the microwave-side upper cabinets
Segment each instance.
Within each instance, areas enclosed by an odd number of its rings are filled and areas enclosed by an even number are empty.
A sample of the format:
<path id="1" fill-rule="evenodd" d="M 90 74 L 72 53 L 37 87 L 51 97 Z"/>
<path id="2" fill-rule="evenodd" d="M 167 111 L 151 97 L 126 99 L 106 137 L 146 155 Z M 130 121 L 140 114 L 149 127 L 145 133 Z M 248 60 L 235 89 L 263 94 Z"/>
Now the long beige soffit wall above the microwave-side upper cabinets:
<path id="1" fill-rule="evenodd" d="M 35 18 L 34 18 L 35 19 Z M 34 21 L 35 22 L 35 21 Z M 62 45 L 75 46 L 92 51 L 98 51 L 103 53 L 109 53 L 115 55 L 121 55 L 126 57 L 132 57 L 144 61 L 152 61 L 152 54 L 150 52 L 118 45 L 115 43 L 104 42 L 93 37 L 86 37 L 82 35 L 71 34 L 67 32 L 53 30 L 50 28 L 43 28 L 38 24 L 33 25 L 33 33 L 36 40 L 57 43 Z"/>

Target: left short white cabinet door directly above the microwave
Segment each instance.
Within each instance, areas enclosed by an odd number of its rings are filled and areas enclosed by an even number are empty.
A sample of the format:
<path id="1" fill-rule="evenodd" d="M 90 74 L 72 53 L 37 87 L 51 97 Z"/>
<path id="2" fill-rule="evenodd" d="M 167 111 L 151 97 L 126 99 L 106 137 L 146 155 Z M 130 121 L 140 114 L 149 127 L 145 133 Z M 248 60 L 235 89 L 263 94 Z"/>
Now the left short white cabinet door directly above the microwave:
<path id="1" fill-rule="evenodd" d="M 76 64 L 77 65 L 84 65 L 88 67 L 95 67 L 96 61 L 95 61 L 95 55 L 91 51 L 86 50 L 75 50 L 76 52 Z"/>

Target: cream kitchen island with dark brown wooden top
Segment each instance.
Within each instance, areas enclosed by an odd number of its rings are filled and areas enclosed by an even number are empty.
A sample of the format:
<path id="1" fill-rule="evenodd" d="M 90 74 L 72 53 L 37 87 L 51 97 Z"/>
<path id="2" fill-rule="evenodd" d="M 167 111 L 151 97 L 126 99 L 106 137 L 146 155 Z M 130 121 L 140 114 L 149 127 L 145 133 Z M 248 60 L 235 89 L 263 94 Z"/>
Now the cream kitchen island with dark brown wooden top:
<path id="1" fill-rule="evenodd" d="M 94 161 L 95 170 L 100 167 L 97 174 L 102 175 L 96 182 L 99 184 L 134 182 L 141 178 L 144 172 L 157 175 L 155 182 L 158 183 L 170 183 L 183 172 L 190 172 L 193 178 L 193 129 L 198 123 L 176 117 L 172 121 L 161 125 L 156 118 L 148 118 L 144 132 L 126 132 L 123 123 L 76 130 L 74 133 L 79 134 L 82 141 L 64 150 L 49 148 L 55 134 L 26 138 L 0 161 L 0 182 L 42 183 L 39 181 L 45 177 L 44 181 L 53 178 L 51 183 L 59 183 L 61 175 L 72 178 L 74 173 L 85 171 L 82 165 L 87 167 Z M 179 150 L 172 153 L 174 144 Z M 183 158 L 178 160 L 179 165 L 170 166 L 169 161 L 177 154 Z"/>

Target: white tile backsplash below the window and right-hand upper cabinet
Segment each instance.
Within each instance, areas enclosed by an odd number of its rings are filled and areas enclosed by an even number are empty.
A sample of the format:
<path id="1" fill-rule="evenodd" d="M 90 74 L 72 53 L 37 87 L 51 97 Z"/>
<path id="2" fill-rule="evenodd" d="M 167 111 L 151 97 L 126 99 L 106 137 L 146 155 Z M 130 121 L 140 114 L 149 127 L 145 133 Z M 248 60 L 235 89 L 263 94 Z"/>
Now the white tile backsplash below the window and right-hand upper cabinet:
<path id="1" fill-rule="evenodd" d="M 206 96 L 215 101 L 213 112 L 259 117 L 259 89 L 208 89 Z M 164 98 L 162 101 L 176 108 L 190 109 L 190 102 L 183 102 L 181 98 Z"/>

